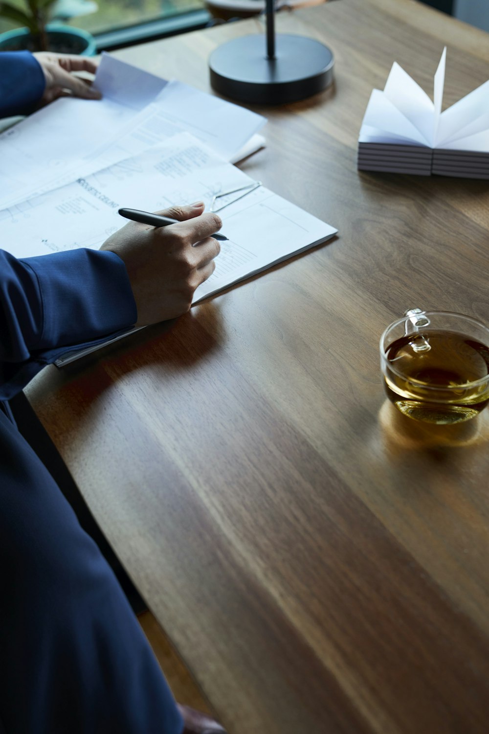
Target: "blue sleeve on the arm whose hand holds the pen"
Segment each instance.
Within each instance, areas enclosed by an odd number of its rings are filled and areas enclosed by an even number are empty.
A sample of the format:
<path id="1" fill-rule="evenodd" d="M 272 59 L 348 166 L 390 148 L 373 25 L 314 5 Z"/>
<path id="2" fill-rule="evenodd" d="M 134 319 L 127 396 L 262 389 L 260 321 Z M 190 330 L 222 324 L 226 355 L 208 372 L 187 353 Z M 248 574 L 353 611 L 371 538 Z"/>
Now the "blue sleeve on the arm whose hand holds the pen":
<path id="1" fill-rule="evenodd" d="M 0 400 L 70 346 L 102 343 L 136 321 L 128 273 L 114 252 L 17 260 L 0 250 Z"/>

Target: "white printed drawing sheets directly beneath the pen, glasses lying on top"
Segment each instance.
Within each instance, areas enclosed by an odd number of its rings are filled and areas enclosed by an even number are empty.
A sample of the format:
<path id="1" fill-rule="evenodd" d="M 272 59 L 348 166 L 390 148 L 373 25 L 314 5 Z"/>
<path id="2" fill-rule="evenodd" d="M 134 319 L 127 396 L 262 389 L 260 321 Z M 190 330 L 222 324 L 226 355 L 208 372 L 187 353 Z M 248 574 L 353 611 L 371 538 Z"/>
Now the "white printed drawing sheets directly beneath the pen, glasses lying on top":
<path id="1" fill-rule="evenodd" d="M 229 241 L 220 243 L 216 270 L 196 289 L 194 303 L 337 232 L 188 133 L 0 211 L 0 226 L 4 242 L 15 242 L 7 249 L 18 258 L 73 247 L 98 249 L 127 223 L 118 214 L 120 207 L 158 211 L 197 200 L 205 202 L 207 211 L 218 211 Z M 74 346 L 56 364 L 67 364 L 105 344 L 83 351 Z"/>

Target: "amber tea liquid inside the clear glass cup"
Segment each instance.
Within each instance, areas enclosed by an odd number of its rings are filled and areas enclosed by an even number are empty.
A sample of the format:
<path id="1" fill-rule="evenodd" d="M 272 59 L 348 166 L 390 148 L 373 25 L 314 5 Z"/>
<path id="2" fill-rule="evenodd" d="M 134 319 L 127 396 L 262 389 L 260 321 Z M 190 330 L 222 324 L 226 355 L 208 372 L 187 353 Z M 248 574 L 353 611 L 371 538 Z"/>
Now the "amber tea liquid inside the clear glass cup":
<path id="1" fill-rule="evenodd" d="M 455 424 L 474 418 L 489 402 L 489 347 L 474 338 L 427 329 L 394 341 L 386 357 L 387 396 L 409 418 Z"/>

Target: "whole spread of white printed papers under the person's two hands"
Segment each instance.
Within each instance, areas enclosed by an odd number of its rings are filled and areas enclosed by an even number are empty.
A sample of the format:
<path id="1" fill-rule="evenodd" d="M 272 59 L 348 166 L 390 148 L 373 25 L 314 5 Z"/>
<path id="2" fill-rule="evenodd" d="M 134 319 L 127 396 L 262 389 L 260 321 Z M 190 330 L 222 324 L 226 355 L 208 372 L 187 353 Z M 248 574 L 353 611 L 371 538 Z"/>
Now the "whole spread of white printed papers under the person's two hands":
<path id="1" fill-rule="evenodd" d="M 261 145 L 264 117 L 107 55 L 95 84 L 102 101 L 60 99 L 0 135 L 2 245 L 15 257 L 98 249 L 127 224 L 119 208 L 203 200 L 229 240 L 196 303 L 337 232 L 229 162 Z"/>

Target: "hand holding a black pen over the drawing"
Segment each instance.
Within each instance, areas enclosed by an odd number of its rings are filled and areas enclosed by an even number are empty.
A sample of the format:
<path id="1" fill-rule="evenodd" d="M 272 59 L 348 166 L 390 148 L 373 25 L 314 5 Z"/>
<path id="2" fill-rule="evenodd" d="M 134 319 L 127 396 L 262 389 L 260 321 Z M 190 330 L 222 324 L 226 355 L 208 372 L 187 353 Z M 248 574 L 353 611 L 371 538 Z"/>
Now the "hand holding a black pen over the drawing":
<path id="1" fill-rule="evenodd" d="M 213 274 L 221 248 L 210 235 L 222 222 L 217 214 L 203 211 L 202 202 L 158 211 L 179 221 L 159 228 L 129 222 L 100 247 L 115 252 L 125 264 L 138 310 L 136 326 L 188 311 L 197 286 Z"/>

